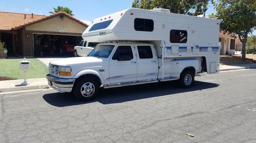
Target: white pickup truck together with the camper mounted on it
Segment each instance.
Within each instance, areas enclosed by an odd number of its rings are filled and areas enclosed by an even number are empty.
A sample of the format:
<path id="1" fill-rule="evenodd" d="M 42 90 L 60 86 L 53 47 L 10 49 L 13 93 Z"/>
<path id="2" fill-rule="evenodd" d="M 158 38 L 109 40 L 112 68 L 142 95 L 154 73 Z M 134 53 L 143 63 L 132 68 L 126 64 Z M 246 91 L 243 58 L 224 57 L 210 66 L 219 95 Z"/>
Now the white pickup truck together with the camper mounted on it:
<path id="1" fill-rule="evenodd" d="M 195 73 L 218 73 L 219 23 L 166 9 L 129 8 L 97 18 L 82 37 L 103 43 L 87 57 L 51 61 L 49 85 L 84 101 L 99 87 L 178 80 L 189 88 Z"/>

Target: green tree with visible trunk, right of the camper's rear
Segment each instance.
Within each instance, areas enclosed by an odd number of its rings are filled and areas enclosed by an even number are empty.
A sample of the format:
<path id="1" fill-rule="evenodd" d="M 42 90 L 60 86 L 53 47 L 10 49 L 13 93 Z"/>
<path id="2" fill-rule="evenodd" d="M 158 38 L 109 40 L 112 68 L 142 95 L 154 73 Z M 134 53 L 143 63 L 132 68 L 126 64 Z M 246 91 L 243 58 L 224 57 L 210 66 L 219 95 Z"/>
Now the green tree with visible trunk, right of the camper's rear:
<path id="1" fill-rule="evenodd" d="M 218 0 L 216 16 L 222 20 L 224 33 L 238 36 L 242 42 L 242 60 L 245 61 L 245 46 L 248 34 L 256 28 L 256 0 Z"/>

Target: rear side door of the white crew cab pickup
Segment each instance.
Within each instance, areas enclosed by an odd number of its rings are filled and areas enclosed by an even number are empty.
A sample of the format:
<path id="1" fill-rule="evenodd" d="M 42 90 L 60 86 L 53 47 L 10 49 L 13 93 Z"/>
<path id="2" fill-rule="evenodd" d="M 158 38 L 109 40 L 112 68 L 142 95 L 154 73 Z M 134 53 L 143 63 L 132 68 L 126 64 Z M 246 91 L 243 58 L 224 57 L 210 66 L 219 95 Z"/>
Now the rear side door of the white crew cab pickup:
<path id="1" fill-rule="evenodd" d="M 137 50 L 137 81 L 157 78 L 157 55 L 151 45 L 135 45 Z"/>

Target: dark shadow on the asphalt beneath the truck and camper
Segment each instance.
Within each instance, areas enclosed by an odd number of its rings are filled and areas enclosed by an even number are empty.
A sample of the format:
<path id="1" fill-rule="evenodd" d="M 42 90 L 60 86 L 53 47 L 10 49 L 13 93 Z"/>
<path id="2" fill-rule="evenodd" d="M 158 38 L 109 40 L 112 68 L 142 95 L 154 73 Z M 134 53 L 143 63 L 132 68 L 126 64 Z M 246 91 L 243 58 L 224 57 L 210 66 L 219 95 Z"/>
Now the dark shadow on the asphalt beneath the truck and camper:
<path id="1" fill-rule="evenodd" d="M 87 102 L 79 101 L 73 96 L 73 93 L 49 93 L 43 95 L 43 98 L 47 103 L 55 107 L 67 107 L 80 104 L 89 104 L 93 102 L 99 102 L 101 104 L 114 104 L 164 95 L 173 96 L 178 93 L 205 90 L 218 86 L 219 84 L 215 83 L 195 81 L 195 86 L 188 89 L 182 89 L 177 86 L 176 81 L 166 81 L 109 89 L 102 88 L 94 100 Z"/>

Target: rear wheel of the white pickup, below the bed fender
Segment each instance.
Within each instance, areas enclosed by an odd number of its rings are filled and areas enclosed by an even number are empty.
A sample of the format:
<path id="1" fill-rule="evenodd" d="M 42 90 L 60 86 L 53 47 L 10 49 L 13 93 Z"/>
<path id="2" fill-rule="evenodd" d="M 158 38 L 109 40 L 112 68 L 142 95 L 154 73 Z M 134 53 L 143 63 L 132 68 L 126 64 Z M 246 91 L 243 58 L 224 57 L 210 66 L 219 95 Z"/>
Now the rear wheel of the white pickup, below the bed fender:
<path id="1" fill-rule="evenodd" d="M 180 73 L 179 85 L 182 88 L 189 88 L 194 84 L 195 74 L 190 70 L 185 70 Z"/>

